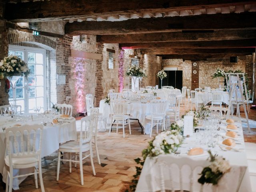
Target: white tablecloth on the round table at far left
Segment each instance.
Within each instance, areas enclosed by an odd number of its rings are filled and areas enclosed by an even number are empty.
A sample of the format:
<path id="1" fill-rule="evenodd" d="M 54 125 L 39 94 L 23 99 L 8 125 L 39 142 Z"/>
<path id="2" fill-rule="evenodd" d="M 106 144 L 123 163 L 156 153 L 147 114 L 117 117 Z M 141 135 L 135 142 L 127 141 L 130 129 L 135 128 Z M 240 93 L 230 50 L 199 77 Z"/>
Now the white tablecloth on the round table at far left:
<path id="1" fill-rule="evenodd" d="M 59 120 L 61 121 L 61 120 Z M 68 122 L 63 122 L 56 124 L 54 126 L 44 126 L 44 130 L 42 132 L 42 152 L 41 157 L 52 154 L 54 151 L 58 150 L 59 144 L 62 142 L 76 140 L 76 120 L 75 118 L 71 118 L 70 120 L 66 120 Z M 3 132 L 2 127 L 12 127 L 17 122 L 13 122 L 10 117 L 0 117 L 0 173 L 3 175 L 3 181 L 6 181 L 6 169 L 4 167 L 4 156 L 6 150 L 6 132 Z M 35 121 L 28 122 L 18 122 L 18 124 L 41 124 L 40 119 L 36 119 Z M 22 169 L 22 170 L 14 170 L 14 175 L 20 171 L 20 174 L 28 173 L 31 169 Z M 13 189 L 19 189 L 19 184 L 25 179 L 23 178 L 15 178 L 13 180 Z"/>

